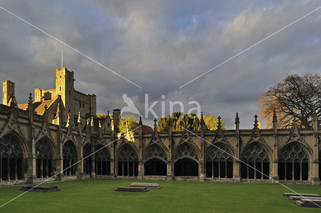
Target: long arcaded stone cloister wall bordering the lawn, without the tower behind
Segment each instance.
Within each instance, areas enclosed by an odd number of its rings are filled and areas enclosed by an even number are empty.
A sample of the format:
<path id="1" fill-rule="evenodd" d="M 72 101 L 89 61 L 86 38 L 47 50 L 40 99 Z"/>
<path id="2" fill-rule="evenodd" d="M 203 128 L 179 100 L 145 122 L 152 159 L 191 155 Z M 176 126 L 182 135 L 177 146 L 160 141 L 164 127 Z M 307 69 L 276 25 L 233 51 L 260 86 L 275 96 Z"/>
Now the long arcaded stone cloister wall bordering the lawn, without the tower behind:
<path id="1" fill-rule="evenodd" d="M 252 165 L 276 181 L 319 184 L 321 130 L 315 128 L 258 129 L 256 121 L 253 129 L 239 129 L 237 125 L 235 130 L 219 128 L 215 131 L 144 133 L 139 128 L 139 132 L 134 134 L 134 141 L 127 141 L 124 137 L 117 138 L 113 130 L 104 132 L 99 127 L 94 128 L 98 119 L 94 120 L 93 125 L 83 122 L 67 127 L 65 122 L 49 124 L 50 114 L 53 112 L 47 110 L 39 116 L 32 109 L 0 105 L 0 143 L 12 138 L 10 143 L 17 142 L 18 151 L 21 150 L 21 155 L 17 155 L 18 163 L 10 165 L 17 166 L 19 171 L 3 170 L 14 179 L 7 180 L 5 174 L 6 178 L 0 181 L 0 185 L 36 183 L 53 174 L 57 174 L 55 180 L 94 178 L 97 175 L 97 178 L 273 182 L 259 172 L 253 174 L 248 167 L 244 167 L 241 161 L 250 159 L 252 155 L 258 156 Z M 85 145 L 89 149 L 84 149 Z M 86 163 L 81 160 L 102 146 L 106 146 L 103 152 L 90 155 Z M 0 146 L 0 154 L 6 156 L 6 150 L 1 147 L 4 146 Z M 278 166 L 285 165 L 282 164 L 282 157 L 288 148 L 293 149 L 302 160 L 297 162 L 296 157 L 293 160 L 289 158 L 285 164 L 293 166 L 293 177 L 287 173 L 290 179 L 279 180 L 279 171 L 284 171 Z M 78 162 L 77 165 L 67 168 L 75 162 Z M 41 163 L 48 164 L 45 170 L 39 167 Z M 64 168 L 67 170 L 63 171 Z M 290 169 L 287 168 L 288 171 Z M 153 172 L 163 173 L 147 175 Z M 193 175 L 188 175 L 188 172 Z M 307 174 L 306 179 L 303 173 Z"/>

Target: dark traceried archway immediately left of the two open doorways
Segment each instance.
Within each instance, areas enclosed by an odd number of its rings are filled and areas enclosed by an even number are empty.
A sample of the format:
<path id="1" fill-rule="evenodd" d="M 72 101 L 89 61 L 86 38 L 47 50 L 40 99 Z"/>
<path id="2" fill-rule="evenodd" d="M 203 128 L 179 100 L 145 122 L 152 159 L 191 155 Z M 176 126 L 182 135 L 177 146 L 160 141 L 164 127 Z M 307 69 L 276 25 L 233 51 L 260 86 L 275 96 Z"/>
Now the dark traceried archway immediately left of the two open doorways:
<path id="1" fill-rule="evenodd" d="M 138 175 L 138 155 L 133 147 L 123 145 L 117 153 L 117 170 L 119 176 Z"/>

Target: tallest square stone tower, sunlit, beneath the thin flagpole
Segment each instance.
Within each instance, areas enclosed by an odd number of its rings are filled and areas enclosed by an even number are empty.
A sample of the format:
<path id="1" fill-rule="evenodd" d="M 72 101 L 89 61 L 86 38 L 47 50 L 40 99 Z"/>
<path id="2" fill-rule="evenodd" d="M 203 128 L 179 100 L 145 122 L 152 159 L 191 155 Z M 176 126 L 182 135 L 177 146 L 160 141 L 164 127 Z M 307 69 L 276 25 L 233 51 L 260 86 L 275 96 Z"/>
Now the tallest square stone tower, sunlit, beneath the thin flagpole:
<path id="1" fill-rule="evenodd" d="M 61 100 L 64 104 L 62 109 L 63 120 L 67 120 L 68 113 L 71 113 L 73 118 L 73 99 L 74 99 L 74 72 L 63 68 L 62 70 L 56 70 L 56 92 L 57 95 L 61 95 Z"/>

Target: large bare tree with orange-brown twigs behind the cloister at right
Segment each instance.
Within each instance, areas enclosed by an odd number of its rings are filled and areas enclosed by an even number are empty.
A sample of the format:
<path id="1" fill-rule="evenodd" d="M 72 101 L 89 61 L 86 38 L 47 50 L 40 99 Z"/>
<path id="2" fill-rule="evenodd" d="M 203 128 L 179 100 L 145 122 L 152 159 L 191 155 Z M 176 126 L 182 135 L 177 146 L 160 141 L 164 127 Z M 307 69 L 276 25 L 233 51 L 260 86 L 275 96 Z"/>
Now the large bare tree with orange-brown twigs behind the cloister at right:
<path id="1" fill-rule="evenodd" d="M 262 93 L 258 104 L 261 105 L 260 117 L 265 118 L 267 127 L 272 126 L 275 110 L 278 128 L 291 126 L 293 116 L 301 128 L 309 128 L 312 126 L 314 110 L 317 118 L 321 115 L 321 75 L 287 74 L 284 79 Z"/>

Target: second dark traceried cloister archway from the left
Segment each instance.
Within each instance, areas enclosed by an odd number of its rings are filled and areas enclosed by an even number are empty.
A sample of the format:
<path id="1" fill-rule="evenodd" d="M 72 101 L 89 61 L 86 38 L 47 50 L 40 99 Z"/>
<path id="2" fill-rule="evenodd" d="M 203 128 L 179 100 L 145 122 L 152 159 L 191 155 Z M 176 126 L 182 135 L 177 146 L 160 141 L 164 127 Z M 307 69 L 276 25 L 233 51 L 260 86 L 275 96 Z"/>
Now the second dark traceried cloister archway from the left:
<path id="1" fill-rule="evenodd" d="M 36 174 L 38 178 L 51 177 L 54 173 L 54 159 L 50 142 L 42 138 L 36 143 Z"/>

